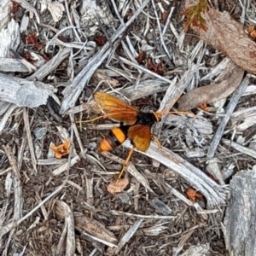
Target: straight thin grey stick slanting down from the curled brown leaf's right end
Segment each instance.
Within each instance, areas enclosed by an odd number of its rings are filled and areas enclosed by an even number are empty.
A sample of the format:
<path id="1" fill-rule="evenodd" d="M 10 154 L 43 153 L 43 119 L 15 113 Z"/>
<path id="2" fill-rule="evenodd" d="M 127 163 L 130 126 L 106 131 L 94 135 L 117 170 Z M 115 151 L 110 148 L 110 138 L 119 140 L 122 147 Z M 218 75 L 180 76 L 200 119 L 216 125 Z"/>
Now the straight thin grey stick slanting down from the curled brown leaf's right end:
<path id="1" fill-rule="evenodd" d="M 247 88 L 247 85 L 249 84 L 249 79 L 245 77 L 240 86 L 236 89 L 234 92 L 233 96 L 230 98 L 230 103 L 226 109 L 226 114 L 224 118 L 222 119 L 221 123 L 218 125 L 218 130 L 215 133 L 215 136 L 212 139 L 212 143 L 210 147 L 208 148 L 207 152 L 207 159 L 212 159 L 212 157 L 215 154 L 215 151 L 218 147 L 218 143 L 220 142 L 223 134 L 224 134 L 224 129 L 226 125 L 228 124 L 230 117 L 232 113 L 234 112 L 237 102 L 239 101 L 240 97 L 242 96 L 244 90 Z"/>

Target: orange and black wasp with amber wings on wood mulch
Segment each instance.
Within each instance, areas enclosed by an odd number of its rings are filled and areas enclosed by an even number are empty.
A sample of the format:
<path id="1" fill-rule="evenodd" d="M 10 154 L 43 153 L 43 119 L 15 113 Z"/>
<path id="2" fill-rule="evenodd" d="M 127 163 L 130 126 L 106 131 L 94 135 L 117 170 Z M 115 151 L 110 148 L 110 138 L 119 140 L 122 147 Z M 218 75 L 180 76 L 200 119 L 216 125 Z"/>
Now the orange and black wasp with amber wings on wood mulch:
<path id="1" fill-rule="evenodd" d="M 154 123 L 160 121 L 162 113 L 144 113 L 137 108 L 133 108 L 130 104 L 121 101 L 119 98 L 102 91 L 97 91 L 93 97 L 105 113 L 103 116 L 97 117 L 96 119 L 109 118 L 120 122 L 118 128 L 113 128 L 108 135 L 103 138 L 99 151 L 109 151 L 124 143 L 126 138 L 129 138 L 133 145 L 119 173 L 119 179 L 125 171 L 125 166 L 131 159 L 134 148 L 140 151 L 146 151 L 149 148 L 151 138 L 154 137 L 151 133 L 151 127 Z"/>

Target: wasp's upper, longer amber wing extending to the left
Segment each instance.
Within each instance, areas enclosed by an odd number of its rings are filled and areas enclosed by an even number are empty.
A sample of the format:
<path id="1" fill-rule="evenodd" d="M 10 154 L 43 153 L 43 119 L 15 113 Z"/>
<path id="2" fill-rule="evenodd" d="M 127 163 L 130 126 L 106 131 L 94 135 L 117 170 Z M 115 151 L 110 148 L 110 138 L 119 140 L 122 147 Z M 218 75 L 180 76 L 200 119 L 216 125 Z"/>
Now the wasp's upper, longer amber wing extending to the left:
<path id="1" fill-rule="evenodd" d="M 134 125 L 136 122 L 139 111 L 119 98 L 102 91 L 96 91 L 93 97 L 108 118 L 124 122 L 126 125 Z"/>

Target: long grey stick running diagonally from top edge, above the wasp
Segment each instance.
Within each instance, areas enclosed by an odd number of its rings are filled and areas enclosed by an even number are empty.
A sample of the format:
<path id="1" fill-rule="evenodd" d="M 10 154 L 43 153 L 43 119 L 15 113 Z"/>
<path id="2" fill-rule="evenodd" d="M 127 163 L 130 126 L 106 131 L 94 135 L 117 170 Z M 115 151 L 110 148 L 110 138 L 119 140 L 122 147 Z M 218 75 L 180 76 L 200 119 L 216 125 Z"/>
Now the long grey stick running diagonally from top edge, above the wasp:
<path id="1" fill-rule="evenodd" d="M 148 4 L 149 0 L 143 2 L 140 9 L 137 9 L 136 13 L 131 16 L 131 19 L 125 24 L 125 26 L 119 26 L 117 31 L 111 37 L 111 42 L 119 39 L 128 26 L 137 18 L 143 9 Z M 81 91 L 84 89 L 84 85 L 89 81 L 90 77 L 93 73 L 95 73 L 96 69 L 102 64 L 102 61 L 110 54 L 111 48 L 110 45 L 107 43 L 105 44 L 102 49 L 94 55 L 89 63 L 84 67 L 84 69 L 77 75 L 75 79 L 73 79 L 73 83 L 67 86 L 67 88 L 63 91 L 64 100 L 61 104 L 61 111 L 60 113 L 67 113 L 69 108 L 72 108 L 77 101 Z"/>

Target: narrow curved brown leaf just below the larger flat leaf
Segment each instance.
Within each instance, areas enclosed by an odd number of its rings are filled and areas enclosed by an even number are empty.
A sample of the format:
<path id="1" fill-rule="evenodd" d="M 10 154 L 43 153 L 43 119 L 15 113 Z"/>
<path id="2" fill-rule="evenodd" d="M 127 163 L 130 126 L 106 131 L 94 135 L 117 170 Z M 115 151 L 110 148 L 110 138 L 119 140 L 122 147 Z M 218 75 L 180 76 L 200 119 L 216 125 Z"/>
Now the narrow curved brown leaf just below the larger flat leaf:
<path id="1" fill-rule="evenodd" d="M 236 90 L 241 84 L 244 71 L 230 61 L 224 72 L 219 75 L 222 77 L 218 82 L 196 88 L 181 96 L 178 100 L 178 110 L 187 111 L 197 108 L 201 103 L 216 102 L 223 99 Z"/>

